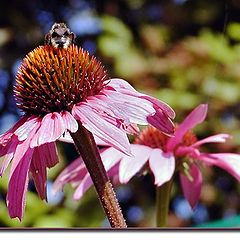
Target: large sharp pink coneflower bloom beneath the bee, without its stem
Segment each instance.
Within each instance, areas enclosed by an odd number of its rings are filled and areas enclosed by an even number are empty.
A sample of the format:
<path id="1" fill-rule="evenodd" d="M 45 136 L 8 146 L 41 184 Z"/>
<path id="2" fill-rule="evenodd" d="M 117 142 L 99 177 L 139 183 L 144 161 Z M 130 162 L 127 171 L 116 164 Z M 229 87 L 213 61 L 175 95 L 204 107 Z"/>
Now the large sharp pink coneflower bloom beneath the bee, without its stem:
<path id="1" fill-rule="evenodd" d="M 136 124 L 174 131 L 168 105 L 124 80 L 108 79 L 101 63 L 76 45 L 37 47 L 24 58 L 16 79 L 15 98 L 24 115 L 0 136 L 0 157 L 5 156 L 0 175 L 12 161 L 7 193 L 12 218 L 23 217 L 29 172 L 46 199 L 46 168 L 58 162 L 55 142 L 64 134 L 87 129 L 86 134 L 131 154 L 126 133 L 135 133 Z"/>

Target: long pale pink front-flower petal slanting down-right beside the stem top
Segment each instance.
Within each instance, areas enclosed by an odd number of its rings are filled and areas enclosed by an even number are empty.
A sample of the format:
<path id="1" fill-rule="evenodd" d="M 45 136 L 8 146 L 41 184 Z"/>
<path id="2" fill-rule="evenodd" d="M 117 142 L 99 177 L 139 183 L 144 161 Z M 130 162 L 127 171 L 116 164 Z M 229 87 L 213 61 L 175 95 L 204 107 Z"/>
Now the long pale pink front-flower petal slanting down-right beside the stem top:
<path id="1" fill-rule="evenodd" d="M 73 115 L 83 126 L 102 141 L 116 149 L 130 154 L 130 144 L 126 133 L 116 126 L 105 121 L 101 116 L 85 104 L 73 107 Z"/>

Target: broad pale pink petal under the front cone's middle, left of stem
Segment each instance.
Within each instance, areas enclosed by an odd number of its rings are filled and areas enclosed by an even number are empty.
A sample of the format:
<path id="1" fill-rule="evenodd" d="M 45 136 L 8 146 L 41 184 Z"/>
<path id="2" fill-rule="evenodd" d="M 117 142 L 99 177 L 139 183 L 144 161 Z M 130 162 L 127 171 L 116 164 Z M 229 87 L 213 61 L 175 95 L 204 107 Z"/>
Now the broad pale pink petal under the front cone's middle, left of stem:
<path id="1" fill-rule="evenodd" d="M 41 126 L 33 137 L 30 147 L 55 142 L 65 132 L 66 128 L 61 115 L 57 112 L 48 113 L 42 119 Z"/>

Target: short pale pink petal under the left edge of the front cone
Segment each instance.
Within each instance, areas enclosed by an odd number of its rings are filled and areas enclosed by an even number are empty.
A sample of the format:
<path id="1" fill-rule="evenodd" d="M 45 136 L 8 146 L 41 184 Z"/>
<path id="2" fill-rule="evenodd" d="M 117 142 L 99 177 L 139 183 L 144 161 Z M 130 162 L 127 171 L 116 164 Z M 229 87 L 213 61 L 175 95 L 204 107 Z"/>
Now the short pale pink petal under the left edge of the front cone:
<path id="1" fill-rule="evenodd" d="M 16 129 L 14 134 L 18 136 L 19 141 L 24 141 L 25 139 L 27 139 L 31 131 L 33 131 L 34 128 L 39 126 L 40 121 L 41 120 L 38 117 L 31 116 L 25 121 L 24 124 L 22 124 L 19 128 Z"/>

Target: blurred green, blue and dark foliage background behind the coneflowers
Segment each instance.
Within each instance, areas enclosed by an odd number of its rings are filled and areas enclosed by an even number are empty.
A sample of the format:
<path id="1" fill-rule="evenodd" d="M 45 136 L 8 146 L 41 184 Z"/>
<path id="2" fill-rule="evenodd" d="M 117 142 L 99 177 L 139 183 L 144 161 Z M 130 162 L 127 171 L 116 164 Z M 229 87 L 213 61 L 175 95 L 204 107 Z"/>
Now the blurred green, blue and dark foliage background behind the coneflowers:
<path id="1" fill-rule="evenodd" d="M 77 44 L 96 55 L 109 76 L 170 104 L 177 121 L 200 103 L 209 104 L 199 138 L 225 132 L 227 144 L 206 151 L 239 152 L 240 2 L 238 0 L 4 0 L 0 4 L 0 134 L 19 117 L 13 85 L 23 57 L 38 45 L 54 22 L 66 22 Z M 22 222 L 10 219 L 0 179 L 0 227 L 108 227 L 94 189 L 72 200 L 73 189 L 51 195 L 57 174 L 77 157 L 71 144 L 58 143 L 60 163 L 48 172 L 48 203 L 30 182 Z M 240 186 L 217 168 L 204 169 L 200 203 L 192 211 L 175 179 L 170 227 L 240 227 Z M 155 226 L 152 176 L 138 176 L 116 187 L 127 223 Z"/>

